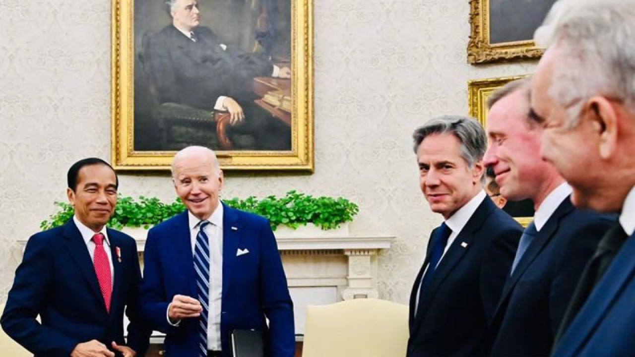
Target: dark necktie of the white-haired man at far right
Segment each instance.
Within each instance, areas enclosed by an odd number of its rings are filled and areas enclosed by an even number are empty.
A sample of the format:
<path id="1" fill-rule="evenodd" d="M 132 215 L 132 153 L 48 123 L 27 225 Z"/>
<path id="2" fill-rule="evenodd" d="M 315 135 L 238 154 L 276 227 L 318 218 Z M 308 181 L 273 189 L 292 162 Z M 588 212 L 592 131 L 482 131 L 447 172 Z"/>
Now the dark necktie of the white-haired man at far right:
<path id="1" fill-rule="evenodd" d="M 584 268 L 578 286 L 575 288 L 569 307 L 566 309 L 565 317 L 560 323 L 556 341 L 562 337 L 578 314 L 578 311 L 582 309 L 587 298 L 591 295 L 593 288 L 598 285 L 598 282 L 601 280 L 608 266 L 610 266 L 615 255 L 617 255 L 617 252 L 622 248 L 622 244 L 624 244 L 626 238 L 628 238 L 626 232 L 624 232 L 620 223 L 617 222 L 611 229 L 606 231 L 599 241 L 595 254 Z"/>

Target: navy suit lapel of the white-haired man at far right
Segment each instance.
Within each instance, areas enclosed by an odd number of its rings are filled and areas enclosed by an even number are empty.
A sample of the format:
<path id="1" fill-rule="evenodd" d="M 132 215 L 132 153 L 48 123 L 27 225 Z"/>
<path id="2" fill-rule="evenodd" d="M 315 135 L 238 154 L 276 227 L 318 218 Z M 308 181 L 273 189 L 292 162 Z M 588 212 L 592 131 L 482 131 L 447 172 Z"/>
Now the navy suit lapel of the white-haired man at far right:
<path id="1" fill-rule="evenodd" d="M 635 234 L 632 234 L 563 336 L 559 345 L 571 351 L 570 354 L 577 354 L 578 349 L 584 346 L 605 317 L 607 310 L 619 297 L 624 285 L 631 281 L 632 274 L 635 273 L 635 259 L 632 258 L 634 255 Z"/>

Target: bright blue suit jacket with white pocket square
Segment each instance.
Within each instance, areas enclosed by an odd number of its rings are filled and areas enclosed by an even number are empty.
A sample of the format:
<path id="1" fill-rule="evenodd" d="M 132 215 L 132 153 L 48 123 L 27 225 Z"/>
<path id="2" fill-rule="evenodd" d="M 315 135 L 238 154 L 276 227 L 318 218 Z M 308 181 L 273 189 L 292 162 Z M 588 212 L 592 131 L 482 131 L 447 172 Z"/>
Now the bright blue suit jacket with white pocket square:
<path id="1" fill-rule="evenodd" d="M 239 248 L 246 248 L 249 253 L 237 257 Z M 144 266 L 142 314 L 152 328 L 167 334 L 168 356 L 196 356 L 198 320 L 186 319 L 178 327 L 172 327 L 166 318 L 174 295 L 197 295 L 187 211 L 150 229 Z M 222 284 L 223 355 L 229 356 L 231 330 L 255 329 L 264 332 L 271 356 L 292 357 L 295 353 L 293 303 L 269 222 L 226 205 Z M 269 328 L 265 316 L 269 319 Z"/>

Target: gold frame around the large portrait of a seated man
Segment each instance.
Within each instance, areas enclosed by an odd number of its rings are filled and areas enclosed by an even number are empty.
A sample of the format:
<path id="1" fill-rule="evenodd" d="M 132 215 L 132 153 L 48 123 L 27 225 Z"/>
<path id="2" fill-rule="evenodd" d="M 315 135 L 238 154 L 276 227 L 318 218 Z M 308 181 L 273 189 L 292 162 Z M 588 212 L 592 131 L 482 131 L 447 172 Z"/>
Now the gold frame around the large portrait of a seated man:
<path id="1" fill-rule="evenodd" d="M 134 1 L 112 0 L 111 145 L 116 170 L 169 170 L 175 151 L 134 150 Z M 313 1 L 291 1 L 290 151 L 217 151 L 224 170 L 314 171 Z"/>

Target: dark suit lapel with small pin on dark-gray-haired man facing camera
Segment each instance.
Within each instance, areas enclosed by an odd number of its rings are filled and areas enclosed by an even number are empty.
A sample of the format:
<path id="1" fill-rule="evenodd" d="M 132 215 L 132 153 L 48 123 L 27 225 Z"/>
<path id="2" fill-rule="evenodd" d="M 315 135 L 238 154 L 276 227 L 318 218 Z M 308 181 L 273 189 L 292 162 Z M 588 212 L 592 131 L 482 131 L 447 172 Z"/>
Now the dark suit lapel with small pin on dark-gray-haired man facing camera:
<path id="1" fill-rule="evenodd" d="M 445 281 L 446 277 L 451 273 L 458 262 L 465 256 L 465 253 L 472 246 L 472 240 L 474 239 L 474 232 L 483 225 L 486 217 L 490 214 L 491 210 L 495 209 L 491 199 L 486 197 L 483 202 L 476 208 L 476 211 L 472 214 L 465 227 L 458 233 L 457 238 L 454 239 L 448 251 L 441 258 L 441 262 L 436 268 L 430 286 L 426 289 L 424 297 L 419 305 L 419 311 L 415 314 L 417 324 L 415 328 L 421 325 L 421 319 L 425 315 L 425 311 L 430 306 L 430 300 L 439 289 L 439 285 Z M 427 257 L 426 257 L 427 260 Z M 416 299 L 416 298 L 415 298 Z"/>

